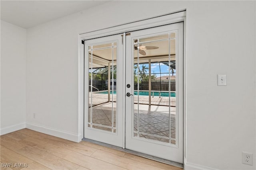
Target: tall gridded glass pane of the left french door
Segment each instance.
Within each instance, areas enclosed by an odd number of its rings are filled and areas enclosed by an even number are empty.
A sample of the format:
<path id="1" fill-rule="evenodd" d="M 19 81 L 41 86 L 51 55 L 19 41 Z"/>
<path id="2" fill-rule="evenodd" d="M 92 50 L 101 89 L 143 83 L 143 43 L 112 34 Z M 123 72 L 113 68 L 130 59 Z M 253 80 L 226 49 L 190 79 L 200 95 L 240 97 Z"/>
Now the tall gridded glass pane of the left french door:
<path id="1" fill-rule="evenodd" d="M 88 46 L 88 127 L 116 133 L 116 42 Z"/>

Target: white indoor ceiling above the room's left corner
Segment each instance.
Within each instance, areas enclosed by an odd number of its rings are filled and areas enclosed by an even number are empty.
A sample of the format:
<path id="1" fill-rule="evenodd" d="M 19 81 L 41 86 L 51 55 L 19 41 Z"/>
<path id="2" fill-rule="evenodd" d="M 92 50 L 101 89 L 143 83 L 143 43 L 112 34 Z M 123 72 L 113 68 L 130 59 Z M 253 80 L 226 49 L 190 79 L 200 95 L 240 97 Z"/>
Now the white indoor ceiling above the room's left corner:
<path id="1" fill-rule="evenodd" d="M 1 20 L 30 28 L 109 1 L 96 0 L 1 0 Z"/>

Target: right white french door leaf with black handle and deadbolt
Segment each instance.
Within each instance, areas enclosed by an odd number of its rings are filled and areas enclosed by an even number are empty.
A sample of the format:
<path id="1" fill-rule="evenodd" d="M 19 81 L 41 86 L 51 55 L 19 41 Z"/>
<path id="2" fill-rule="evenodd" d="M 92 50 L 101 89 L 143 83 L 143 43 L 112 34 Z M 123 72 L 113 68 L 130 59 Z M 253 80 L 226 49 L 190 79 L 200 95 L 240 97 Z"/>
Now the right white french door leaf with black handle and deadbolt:
<path id="1" fill-rule="evenodd" d="M 183 22 L 126 36 L 126 85 L 125 147 L 183 163 Z"/>

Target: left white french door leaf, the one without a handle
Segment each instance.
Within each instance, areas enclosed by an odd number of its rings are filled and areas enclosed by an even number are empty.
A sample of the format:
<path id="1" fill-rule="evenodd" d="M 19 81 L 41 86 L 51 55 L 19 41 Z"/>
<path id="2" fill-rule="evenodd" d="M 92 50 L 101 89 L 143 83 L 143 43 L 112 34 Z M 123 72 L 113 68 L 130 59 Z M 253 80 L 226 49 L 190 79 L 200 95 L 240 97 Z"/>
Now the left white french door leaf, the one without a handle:
<path id="1" fill-rule="evenodd" d="M 121 34 L 84 42 L 84 137 L 123 147 Z"/>

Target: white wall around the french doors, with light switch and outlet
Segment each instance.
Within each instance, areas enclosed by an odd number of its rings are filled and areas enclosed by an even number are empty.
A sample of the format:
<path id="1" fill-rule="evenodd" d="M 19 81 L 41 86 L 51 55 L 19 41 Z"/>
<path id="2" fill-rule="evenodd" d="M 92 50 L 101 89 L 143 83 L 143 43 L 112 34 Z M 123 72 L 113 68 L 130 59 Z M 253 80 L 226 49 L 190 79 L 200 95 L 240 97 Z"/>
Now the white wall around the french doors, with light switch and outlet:
<path id="1" fill-rule="evenodd" d="M 255 5 L 113 1 L 28 29 L 27 125 L 74 141 L 81 135 L 78 33 L 186 9 L 186 168 L 255 169 L 241 163 L 242 151 L 256 162 Z M 217 74 L 227 74 L 227 86 L 216 86 Z"/>

